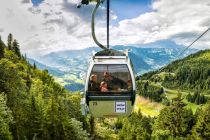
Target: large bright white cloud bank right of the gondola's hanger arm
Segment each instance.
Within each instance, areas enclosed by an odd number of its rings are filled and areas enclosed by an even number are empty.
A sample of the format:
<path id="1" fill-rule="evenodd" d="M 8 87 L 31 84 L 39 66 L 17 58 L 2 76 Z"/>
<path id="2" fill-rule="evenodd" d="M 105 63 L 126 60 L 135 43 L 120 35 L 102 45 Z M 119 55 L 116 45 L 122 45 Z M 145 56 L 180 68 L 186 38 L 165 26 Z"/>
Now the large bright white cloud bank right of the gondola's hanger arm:
<path id="1" fill-rule="evenodd" d="M 188 45 L 210 27 L 209 3 L 208 0 L 154 1 L 151 12 L 120 21 L 117 27 L 112 27 L 112 38 L 118 40 L 113 40 L 112 44 L 142 44 L 169 39 Z M 210 37 L 209 34 L 206 36 Z M 210 44 L 203 44 L 210 48 Z"/>

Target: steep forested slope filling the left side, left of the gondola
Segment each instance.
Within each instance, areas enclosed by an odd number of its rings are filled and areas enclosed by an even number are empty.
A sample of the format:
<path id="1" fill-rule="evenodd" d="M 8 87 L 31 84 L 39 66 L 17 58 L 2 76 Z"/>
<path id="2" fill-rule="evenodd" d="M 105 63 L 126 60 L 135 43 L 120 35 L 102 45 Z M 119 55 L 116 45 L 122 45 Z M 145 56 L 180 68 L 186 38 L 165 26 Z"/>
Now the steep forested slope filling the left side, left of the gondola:
<path id="1" fill-rule="evenodd" d="M 0 40 L 1 140 L 88 139 L 79 102 L 47 70 L 30 65 L 11 34 L 7 45 Z"/>

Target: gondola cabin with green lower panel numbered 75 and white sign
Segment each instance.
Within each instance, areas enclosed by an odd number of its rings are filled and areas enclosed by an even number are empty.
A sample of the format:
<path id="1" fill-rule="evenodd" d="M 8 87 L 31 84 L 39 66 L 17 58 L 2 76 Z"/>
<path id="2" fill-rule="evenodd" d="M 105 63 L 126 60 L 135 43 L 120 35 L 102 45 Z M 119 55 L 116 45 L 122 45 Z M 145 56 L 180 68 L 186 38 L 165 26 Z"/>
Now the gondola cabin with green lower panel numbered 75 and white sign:
<path id="1" fill-rule="evenodd" d="M 94 117 L 130 115 L 135 90 L 134 73 L 127 54 L 109 50 L 93 56 L 85 83 L 85 99 Z"/>

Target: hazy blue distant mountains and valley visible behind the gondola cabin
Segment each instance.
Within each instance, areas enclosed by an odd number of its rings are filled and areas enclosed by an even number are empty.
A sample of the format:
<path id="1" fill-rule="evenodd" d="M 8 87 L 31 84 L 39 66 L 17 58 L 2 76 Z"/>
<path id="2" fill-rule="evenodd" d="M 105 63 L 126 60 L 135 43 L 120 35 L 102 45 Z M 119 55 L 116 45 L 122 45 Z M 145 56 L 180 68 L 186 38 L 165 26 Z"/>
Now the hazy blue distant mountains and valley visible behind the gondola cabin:
<path id="1" fill-rule="evenodd" d="M 138 46 L 113 46 L 116 50 L 129 49 L 129 56 L 133 62 L 135 72 L 143 74 L 150 70 L 158 69 L 177 59 L 184 46 L 171 41 L 159 41 Z M 70 90 L 83 88 L 83 78 L 88 68 L 88 62 L 93 51 L 100 51 L 96 47 L 83 50 L 65 50 L 53 52 L 37 59 L 37 67 L 49 69 L 58 82 Z M 180 58 L 195 53 L 196 49 L 187 50 Z M 43 64 L 43 65 L 41 65 Z"/>

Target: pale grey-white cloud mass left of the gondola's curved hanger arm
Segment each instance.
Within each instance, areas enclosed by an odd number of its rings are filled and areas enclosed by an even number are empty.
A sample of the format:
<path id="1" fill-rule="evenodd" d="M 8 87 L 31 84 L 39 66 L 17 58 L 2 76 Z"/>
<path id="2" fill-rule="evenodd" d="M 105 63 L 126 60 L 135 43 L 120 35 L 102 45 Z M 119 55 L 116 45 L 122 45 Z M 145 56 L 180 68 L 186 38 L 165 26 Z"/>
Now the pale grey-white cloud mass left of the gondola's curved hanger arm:
<path id="1" fill-rule="evenodd" d="M 21 44 L 21 51 L 29 56 L 94 45 L 90 22 L 85 20 L 88 13 L 81 16 L 75 2 L 68 2 L 70 9 L 64 6 L 66 2 L 63 0 L 45 0 L 38 7 L 22 2 L 8 0 L 0 5 L 0 20 L 3 21 L 0 27 L 5 29 L 4 40 L 10 32 L 13 33 Z"/>

